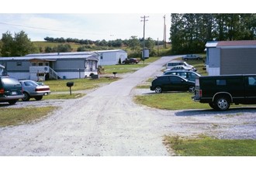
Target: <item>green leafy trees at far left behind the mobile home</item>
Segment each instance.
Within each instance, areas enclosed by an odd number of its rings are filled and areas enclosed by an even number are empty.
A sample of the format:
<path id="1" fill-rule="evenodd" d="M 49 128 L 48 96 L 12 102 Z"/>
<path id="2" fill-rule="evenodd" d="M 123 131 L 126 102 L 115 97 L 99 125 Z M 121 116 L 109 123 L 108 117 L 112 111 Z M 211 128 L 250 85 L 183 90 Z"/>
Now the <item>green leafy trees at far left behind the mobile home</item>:
<path id="1" fill-rule="evenodd" d="M 25 56 L 39 52 L 23 31 L 15 33 L 14 36 L 10 32 L 3 33 L 0 50 L 1 56 Z"/>

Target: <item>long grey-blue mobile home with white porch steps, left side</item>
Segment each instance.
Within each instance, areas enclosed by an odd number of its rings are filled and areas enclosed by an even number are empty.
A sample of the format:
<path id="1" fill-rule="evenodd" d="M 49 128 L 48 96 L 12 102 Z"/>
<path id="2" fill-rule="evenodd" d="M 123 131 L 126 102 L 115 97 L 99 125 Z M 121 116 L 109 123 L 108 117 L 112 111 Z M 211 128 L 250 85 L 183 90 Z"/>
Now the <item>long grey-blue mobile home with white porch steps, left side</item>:
<path id="1" fill-rule="evenodd" d="M 19 80 L 84 78 L 98 74 L 99 53 L 38 53 L 0 57 L 9 76 Z"/>

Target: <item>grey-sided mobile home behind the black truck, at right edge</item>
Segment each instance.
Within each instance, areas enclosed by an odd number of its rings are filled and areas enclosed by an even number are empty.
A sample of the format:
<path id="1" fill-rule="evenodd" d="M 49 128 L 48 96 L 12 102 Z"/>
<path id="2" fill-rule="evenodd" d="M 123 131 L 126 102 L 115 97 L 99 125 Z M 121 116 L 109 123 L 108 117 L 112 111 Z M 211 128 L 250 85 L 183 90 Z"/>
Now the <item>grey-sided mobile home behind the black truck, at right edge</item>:
<path id="1" fill-rule="evenodd" d="M 206 43 L 209 76 L 256 73 L 256 40 Z"/>

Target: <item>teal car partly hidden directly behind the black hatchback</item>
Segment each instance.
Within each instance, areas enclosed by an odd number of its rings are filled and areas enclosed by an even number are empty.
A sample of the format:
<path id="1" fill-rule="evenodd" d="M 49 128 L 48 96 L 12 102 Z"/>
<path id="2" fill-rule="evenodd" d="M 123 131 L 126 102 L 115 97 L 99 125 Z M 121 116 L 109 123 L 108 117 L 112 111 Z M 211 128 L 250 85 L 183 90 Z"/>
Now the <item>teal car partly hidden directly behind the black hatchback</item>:
<path id="1" fill-rule="evenodd" d="M 170 71 L 164 72 L 164 75 L 178 75 L 193 82 L 195 82 L 195 78 L 201 76 L 199 73 L 195 73 L 194 71 L 185 71 L 185 70 L 170 70 Z"/>

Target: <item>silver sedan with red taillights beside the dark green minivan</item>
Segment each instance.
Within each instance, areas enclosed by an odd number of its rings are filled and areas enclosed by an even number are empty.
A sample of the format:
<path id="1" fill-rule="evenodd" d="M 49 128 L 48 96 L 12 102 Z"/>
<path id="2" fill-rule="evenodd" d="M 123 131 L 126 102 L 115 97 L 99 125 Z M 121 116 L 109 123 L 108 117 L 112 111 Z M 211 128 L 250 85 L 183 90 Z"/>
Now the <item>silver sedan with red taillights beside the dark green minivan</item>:
<path id="1" fill-rule="evenodd" d="M 23 88 L 23 101 L 28 101 L 30 98 L 42 100 L 43 96 L 50 94 L 50 87 L 43 83 L 36 83 L 33 80 L 20 80 L 19 82 Z"/>

